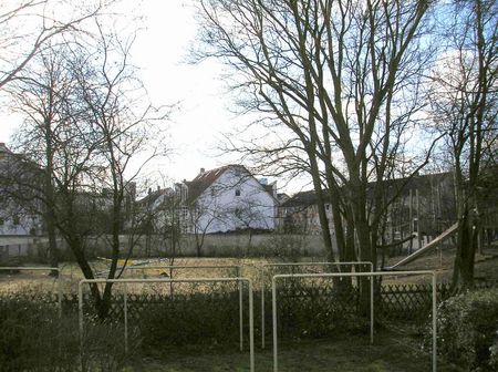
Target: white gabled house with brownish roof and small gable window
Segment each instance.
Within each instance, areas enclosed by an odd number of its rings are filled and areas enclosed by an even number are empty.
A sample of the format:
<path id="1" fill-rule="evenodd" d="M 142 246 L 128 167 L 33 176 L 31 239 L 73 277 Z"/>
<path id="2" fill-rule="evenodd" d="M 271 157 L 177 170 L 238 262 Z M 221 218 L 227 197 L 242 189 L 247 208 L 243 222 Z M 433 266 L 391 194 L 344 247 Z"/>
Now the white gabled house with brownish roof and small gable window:
<path id="1" fill-rule="evenodd" d="M 258 180 L 242 165 L 200 169 L 190 182 L 176 184 L 187 232 L 226 232 L 276 228 L 276 185 Z"/>

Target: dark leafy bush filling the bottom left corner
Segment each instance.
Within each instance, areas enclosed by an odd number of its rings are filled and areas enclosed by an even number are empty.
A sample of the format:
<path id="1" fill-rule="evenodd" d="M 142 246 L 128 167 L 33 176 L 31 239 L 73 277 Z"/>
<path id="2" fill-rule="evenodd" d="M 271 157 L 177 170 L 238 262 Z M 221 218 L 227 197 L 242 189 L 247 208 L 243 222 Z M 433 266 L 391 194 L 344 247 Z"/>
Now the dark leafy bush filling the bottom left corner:
<path id="1" fill-rule="evenodd" d="M 0 297 L 0 330 L 1 371 L 81 371 L 77 316 L 61 318 L 43 296 Z M 84 371 L 120 371 L 128 360 L 122 329 L 87 322 L 85 331 Z"/>

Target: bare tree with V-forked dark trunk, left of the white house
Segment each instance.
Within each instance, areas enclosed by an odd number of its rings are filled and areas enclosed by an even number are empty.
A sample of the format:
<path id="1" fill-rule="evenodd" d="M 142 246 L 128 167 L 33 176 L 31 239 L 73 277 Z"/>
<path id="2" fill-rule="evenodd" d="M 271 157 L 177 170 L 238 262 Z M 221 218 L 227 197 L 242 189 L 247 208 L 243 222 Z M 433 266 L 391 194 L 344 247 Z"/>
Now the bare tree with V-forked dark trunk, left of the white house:
<path id="1" fill-rule="evenodd" d="M 12 87 L 15 105 L 27 117 L 18 136 L 19 149 L 41 169 L 38 197 L 44 217 L 68 242 L 87 279 L 93 271 L 87 240 L 97 235 L 111 248 L 108 278 L 118 278 L 126 196 L 153 157 L 164 154 L 165 117 L 147 102 L 136 70 L 129 64 L 134 37 L 123 41 L 104 31 L 44 51 L 38 74 L 27 71 Z M 154 141 L 162 146 L 154 146 Z M 129 203 L 129 200 L 128 200 Z M 112 286 L 101 294 L 91 286 L 98 314 L 107 314 Z"/>

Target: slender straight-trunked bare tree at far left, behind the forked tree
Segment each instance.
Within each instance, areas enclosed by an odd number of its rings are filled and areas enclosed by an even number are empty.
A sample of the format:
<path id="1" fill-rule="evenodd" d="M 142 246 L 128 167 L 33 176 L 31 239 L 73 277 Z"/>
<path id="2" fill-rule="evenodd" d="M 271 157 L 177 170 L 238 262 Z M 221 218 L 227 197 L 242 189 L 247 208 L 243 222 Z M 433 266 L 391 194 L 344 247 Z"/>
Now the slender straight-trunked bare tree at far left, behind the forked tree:
<path id="1" fill-rule="evenodd" d="M 23 189 L 31 188 L 30 193 L 17 192 L 11 197 L 19 205 L 39 206 L 34 214 L 43 216 L 49 236 L 49 261 L 52 267 L 58 266 L 58 202 L 53 177 L 60 169 L 55 169 L 55 157 L 60 156 L 64 146 L 68 122 L 81 117 L 81 113 L 70 108 L 76 82 L 68 69 L 66 60 L 60 56 L 69 51 L 65 46 L 53 46 L 40 52 L 33 61 L 37 66 L 19 73 L 17 81 L 8 89 L 13 100 L 13 111 L 25 117 L 24 125 L 17 133 L 17 149 L 23 157 L 31 159 L 31 164 L 37 164 L 37 173 L 43 179 L 38 183 L 23 182 L 25 177 L 22 174 L 33 172 L 25 167 L 11 169 L 2 175 L 2 179 L 15 182 L 18 185 L 22 183 Z M 33 203 L 34 198 L 40 203 Z"/>

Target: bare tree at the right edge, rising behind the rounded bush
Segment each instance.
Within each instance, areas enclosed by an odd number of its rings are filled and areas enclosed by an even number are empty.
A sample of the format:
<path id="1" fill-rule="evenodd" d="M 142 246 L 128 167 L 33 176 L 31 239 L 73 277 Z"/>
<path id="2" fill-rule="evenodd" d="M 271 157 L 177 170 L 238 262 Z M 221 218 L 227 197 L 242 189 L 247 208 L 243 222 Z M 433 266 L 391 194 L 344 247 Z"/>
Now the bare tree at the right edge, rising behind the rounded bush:
<path id="1" fill-rule="evenodd" d="M 474 283 L 479 188 L 496 166 L 498 4 L 456 0 L 443 9 L 444 50 L 433 73 L 432 118 L 453 157 L 458 214 L 455 290 Z M 495 155 L 492 155 L 495 152 Z"/>

